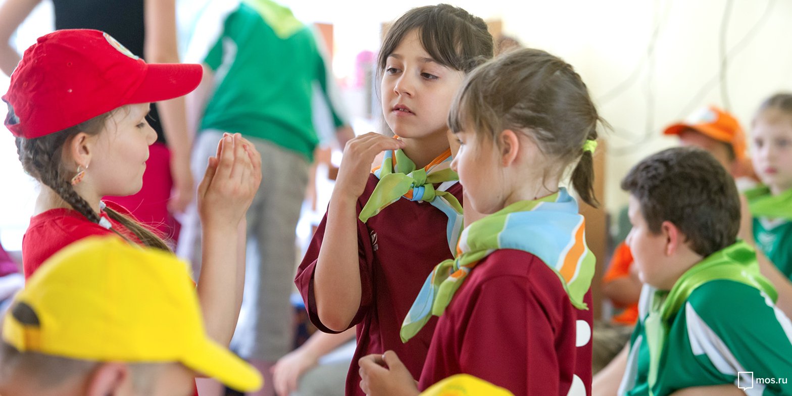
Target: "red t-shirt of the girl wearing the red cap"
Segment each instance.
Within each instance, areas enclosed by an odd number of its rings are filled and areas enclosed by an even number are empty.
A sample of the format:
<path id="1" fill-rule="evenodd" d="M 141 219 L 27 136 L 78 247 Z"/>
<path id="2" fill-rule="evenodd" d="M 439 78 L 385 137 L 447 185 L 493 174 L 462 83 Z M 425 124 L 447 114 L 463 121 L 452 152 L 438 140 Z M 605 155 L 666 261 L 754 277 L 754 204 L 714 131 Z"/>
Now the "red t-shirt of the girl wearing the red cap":
<path id="1" fill-rule="evenodd" d="M 124 207 L 109 201 L 105 201 L 105 204 L 108 208 L 135 219 Z M 114 230 L 118 230 L 132 242 L 141 243 L 126 227 L 113 219 L 109 220 Z M 50 209 L 32 216 L 25 237 L 22 238 L 22 268 L 25 271 L 25 280 L 51 255 L 70 243 L 93 235 L 109 234 L 116 235 L 112 230 L 90 222 L 86 216 L 74 209 Z"/>

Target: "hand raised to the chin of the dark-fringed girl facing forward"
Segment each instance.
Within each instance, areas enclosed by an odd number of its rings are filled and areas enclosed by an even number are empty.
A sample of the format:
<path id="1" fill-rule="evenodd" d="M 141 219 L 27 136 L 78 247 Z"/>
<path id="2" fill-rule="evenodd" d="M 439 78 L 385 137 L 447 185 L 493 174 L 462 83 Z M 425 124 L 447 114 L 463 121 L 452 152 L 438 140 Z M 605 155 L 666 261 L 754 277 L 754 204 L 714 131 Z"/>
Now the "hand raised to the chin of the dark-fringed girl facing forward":
<path id="1" fill-rule="evenodd" d="M 341 169 L 333 194 L 345 194 L 351 200 L 357 200 L 363 194 L 371 173 L 371 163 L 377 154 L 385 150 L 398 150 L 404 148 L 404 142 L 389 138 L 379 133 L 368 132 L 355 139 L 349 140 L 344 147 L 344 158 L 341 160 Z"/>

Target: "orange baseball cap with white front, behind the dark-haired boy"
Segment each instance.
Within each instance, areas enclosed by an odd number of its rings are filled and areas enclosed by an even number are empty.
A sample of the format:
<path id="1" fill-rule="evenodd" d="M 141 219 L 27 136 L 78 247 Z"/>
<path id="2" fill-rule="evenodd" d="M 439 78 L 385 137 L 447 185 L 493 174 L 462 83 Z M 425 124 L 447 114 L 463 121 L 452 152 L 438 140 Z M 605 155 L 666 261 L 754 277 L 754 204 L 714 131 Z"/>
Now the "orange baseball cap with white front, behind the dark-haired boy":
<path id="1" fill-rule="evenodd" d="M 737 118 L 715 106 L 699 109 L 686 120 L 665 128 L 665 135 L 679 135 L 685 129 L 692 129 L 710 138 L 729 143 L 737 160 L 745 158 L 745 133 Z"/>

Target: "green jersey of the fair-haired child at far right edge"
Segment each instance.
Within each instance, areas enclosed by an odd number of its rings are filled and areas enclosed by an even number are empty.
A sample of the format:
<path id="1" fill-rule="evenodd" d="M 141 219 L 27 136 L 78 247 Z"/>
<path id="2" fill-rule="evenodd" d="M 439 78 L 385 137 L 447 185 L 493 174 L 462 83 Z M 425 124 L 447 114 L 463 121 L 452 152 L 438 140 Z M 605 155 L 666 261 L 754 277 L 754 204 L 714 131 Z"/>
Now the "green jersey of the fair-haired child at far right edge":
<path id="1" fill-rule="evenodd" d="M 756 247 L 792 280 L 792 221 L 786 219 L 753 219 Z"/>

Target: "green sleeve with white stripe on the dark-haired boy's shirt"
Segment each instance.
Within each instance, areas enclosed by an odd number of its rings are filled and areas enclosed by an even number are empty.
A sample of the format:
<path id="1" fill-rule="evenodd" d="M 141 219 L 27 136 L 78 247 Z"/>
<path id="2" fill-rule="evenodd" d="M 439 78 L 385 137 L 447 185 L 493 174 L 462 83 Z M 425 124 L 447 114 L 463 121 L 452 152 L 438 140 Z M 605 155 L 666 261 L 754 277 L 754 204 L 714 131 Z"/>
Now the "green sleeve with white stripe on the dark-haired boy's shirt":
<path id="1" fill-rule="evenodd" d="M 735 383 L 737 372 L 752 371 L 749 396 L 792 394 L 792 323 L 767 295 L 714 280 L 694 291 L 684 309 L 695 355 L 706 354 Z"/>

